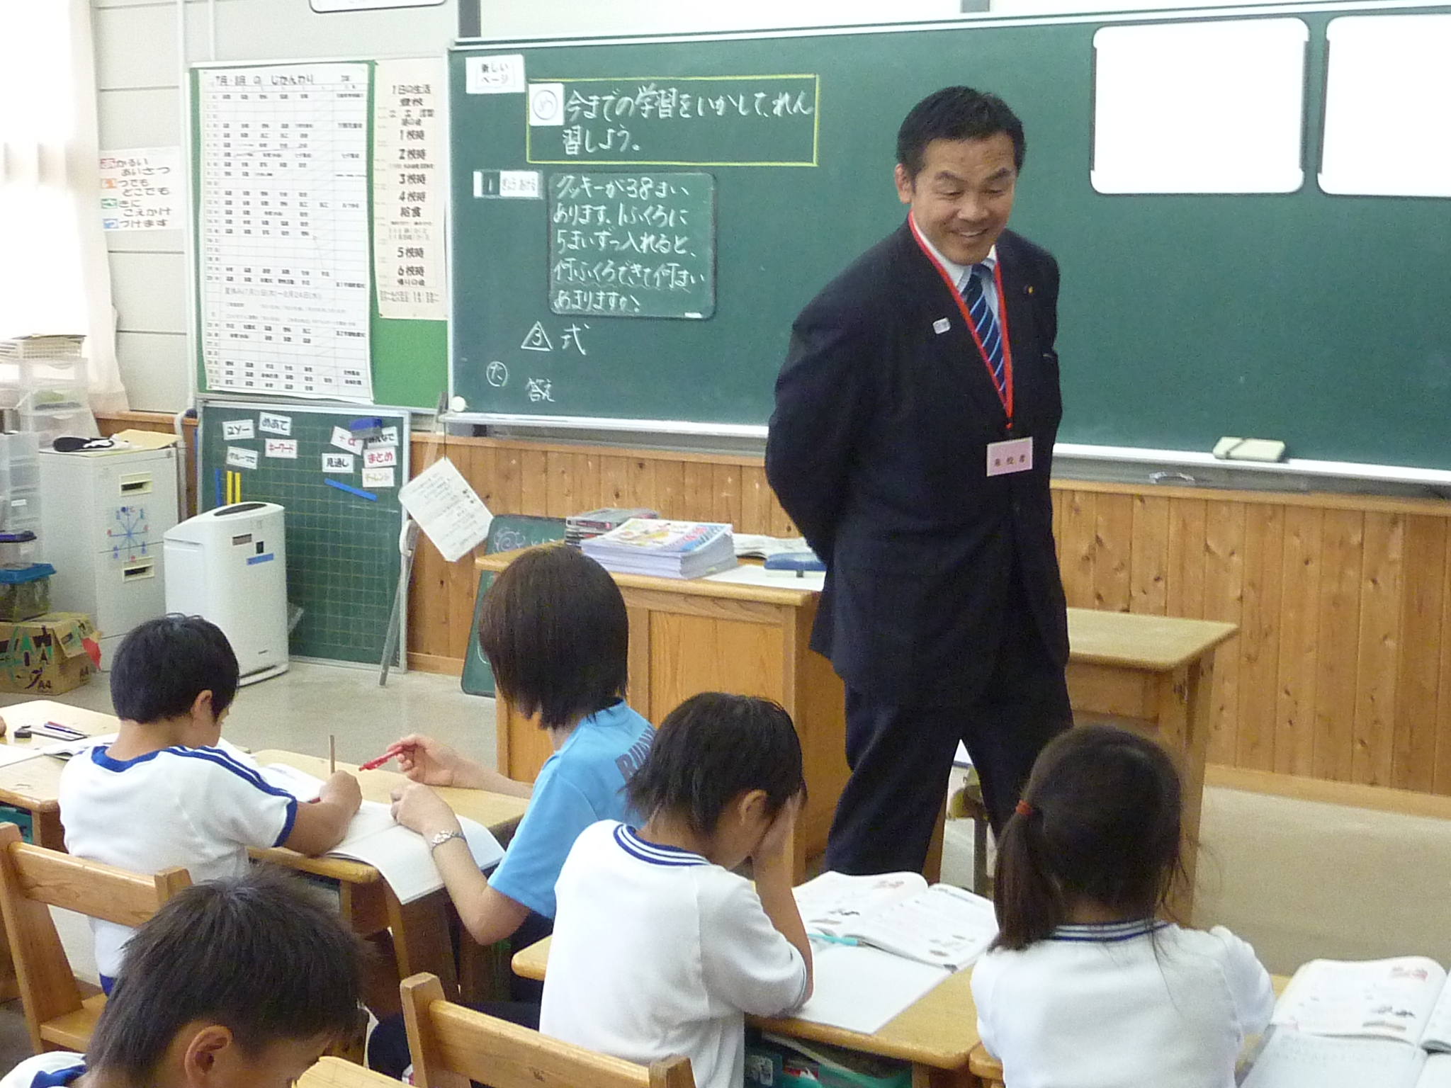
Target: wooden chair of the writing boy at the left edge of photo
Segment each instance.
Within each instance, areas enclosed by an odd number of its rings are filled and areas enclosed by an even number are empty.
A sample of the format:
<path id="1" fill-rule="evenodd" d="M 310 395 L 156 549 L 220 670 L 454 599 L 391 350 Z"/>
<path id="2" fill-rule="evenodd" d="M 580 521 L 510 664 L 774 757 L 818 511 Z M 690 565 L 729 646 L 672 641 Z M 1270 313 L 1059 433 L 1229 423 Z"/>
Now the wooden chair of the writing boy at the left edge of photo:
<path id="1" fill-rule="evenodd" d="M 36 1053 L 84 1052 L 106 1004 L 100 994 L 81 998 L 49 908 L 139 926 L 190 885 L 186 869 L 142 876 L 29 846 L 15 824 L 0 824 L 0 911 L 25 1005 L 25 1026 Z"/>

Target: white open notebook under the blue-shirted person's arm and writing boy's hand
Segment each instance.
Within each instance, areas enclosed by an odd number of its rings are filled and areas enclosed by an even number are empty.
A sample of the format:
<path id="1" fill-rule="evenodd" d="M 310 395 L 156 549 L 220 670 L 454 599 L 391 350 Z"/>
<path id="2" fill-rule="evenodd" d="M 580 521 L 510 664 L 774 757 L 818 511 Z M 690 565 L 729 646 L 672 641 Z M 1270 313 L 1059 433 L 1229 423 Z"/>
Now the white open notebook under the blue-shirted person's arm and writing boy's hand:
<path id="1" fill-rule="evenodd" d="M 313 801 L 322 788 L 322 780 L 296 767 L 273 763 L 258 767 L 263 778 L 280 789 L 286 789 L 302 802 Z M 464 841 L 480 869 L 489 869 L 503 857 L 503 847 L 483 824 L 459 817 Z M 328 857 L 348 857 L 377 869 L 399 902 L 421 899 L 444 886 L 434 866 L 428 843 L 422 836 L 409 831 L 393 820 L 387 805 L 364 801 L 348 824 L 347 837 L 328 852 Z"/>

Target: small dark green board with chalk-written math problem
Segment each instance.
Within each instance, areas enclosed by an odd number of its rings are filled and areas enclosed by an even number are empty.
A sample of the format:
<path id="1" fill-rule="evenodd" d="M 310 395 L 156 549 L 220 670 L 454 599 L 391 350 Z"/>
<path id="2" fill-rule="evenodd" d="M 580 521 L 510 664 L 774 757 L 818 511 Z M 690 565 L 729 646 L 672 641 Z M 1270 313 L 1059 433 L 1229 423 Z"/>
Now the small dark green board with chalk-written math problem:
<path id="1" fill-rule="evenodd" d="M 550 309 L 617 318 L 715 312 L 715 178 L 554 174 Z"/>

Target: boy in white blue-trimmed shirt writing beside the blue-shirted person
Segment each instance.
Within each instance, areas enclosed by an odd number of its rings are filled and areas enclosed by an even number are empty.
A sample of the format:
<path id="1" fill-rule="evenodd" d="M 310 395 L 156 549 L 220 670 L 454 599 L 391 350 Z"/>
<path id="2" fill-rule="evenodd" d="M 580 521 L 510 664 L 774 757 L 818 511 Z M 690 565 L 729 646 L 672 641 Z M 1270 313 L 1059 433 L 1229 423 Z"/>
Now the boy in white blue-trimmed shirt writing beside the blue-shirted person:
<path id="1" fill-rule="evenodd" d="M 237 679 L 226 635 L 200 617 L 151 619 L 122 640 L 110 672 L 120 731 L 61 773 L 70 853 L 141 873 L 180 865 L 202 882 L 244 873 L 252 846 L 321 854 L 342 841 L 363 801 L 351 775 L 302 805 L 218 747 Z M 132 930 L 100 920 L 91 930 L 109 994 Z"/>

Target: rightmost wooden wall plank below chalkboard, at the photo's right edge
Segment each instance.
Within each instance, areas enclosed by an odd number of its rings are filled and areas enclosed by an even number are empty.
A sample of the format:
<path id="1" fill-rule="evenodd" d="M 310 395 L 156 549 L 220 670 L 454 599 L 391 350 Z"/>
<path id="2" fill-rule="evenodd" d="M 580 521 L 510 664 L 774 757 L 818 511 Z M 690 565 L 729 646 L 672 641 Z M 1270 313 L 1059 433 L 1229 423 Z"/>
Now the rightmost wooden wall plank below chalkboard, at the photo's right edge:
<path id="1" fill-rule="evenodd" d="M 1407 515 L 1403 608 L 1400 611 L 1396 724 L 1390 743 L 1390 785 L 1431 792 L 1436 778 L 1436 689 L 1447 588 L 1447 521 Z M 1447 677 L 1451 680 L 1451 676 Z"/>

